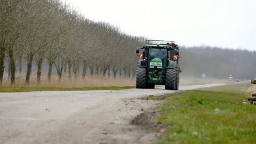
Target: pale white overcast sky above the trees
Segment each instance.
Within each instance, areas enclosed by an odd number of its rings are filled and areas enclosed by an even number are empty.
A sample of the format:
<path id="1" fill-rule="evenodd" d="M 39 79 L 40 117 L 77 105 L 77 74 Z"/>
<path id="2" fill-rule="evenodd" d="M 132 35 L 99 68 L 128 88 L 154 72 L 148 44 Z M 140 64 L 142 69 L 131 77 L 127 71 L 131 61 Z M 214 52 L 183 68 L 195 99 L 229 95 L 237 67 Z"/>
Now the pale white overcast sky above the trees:
<path id="1" fill-rule="evenodd" d="M 130 35 L 182 46 L 256 50 L 254 0 L 66 1 L 88 19 L 116 25 Z"/>

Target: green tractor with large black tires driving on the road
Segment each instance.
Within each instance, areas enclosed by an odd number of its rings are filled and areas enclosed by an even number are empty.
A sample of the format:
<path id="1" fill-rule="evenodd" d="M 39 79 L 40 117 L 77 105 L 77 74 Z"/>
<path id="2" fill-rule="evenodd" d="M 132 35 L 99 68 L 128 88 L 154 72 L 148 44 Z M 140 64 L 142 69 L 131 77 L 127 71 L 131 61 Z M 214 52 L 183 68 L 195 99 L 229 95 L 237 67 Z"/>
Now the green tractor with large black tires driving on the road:
<path id="1" fill-rule="evenodd" d="M 142 53 L 140 53 L 142 50 Z M 178 45 L 174 41 L 146 40 L 144 47 L 136 49 L 141 59 L 137 64 L 136 88 L 165 85 L 165 89 L 178 90 Z"/>

